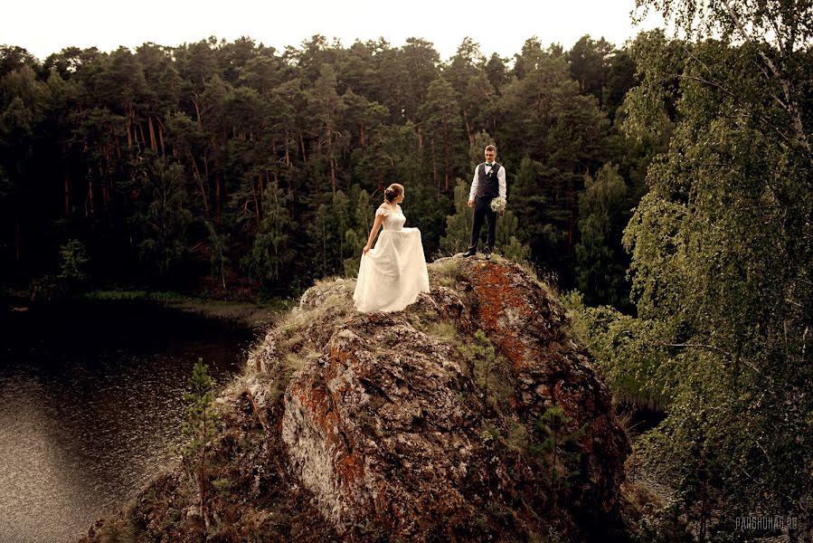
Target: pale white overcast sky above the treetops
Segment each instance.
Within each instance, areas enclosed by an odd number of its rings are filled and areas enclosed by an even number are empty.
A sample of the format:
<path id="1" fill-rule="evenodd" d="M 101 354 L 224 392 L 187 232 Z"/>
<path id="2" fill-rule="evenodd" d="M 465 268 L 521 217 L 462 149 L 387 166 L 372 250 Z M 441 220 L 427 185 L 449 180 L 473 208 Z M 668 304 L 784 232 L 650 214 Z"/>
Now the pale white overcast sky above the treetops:
<path id="1" fill-rule="evenodd" d="M 621 45 L 641 30 L 662 26 L 658 15 L 634 26 L 635 0 L 8 0 L 0 14 L 0 43 L 19 45 L 43 60 L 76 45 L 112 51 L 145 42 L 177 45 L 211 35 L 232 41 L 249 36 L 282 51 L 314 34 L 345 46 L 383 36 L 393 47 L 408 37 L 434 43 L 445 61 L 463 38 L 480 50 L 513 57 L 525 40 L 569 49 L 582 35 Z"/>

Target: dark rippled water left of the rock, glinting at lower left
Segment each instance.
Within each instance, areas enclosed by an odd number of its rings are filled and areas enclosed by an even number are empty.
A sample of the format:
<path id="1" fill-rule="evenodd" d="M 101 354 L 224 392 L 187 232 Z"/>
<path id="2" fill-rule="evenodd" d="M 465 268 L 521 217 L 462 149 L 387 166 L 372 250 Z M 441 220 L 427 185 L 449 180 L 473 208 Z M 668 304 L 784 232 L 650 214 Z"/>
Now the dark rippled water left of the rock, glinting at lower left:
<path id="1" fill-rule="evenodd" d="M 198 357 L 219 384 L 255 333 L 129 301 L 0 314 L 0 542 L 75 541 L 174 461 Z"/>

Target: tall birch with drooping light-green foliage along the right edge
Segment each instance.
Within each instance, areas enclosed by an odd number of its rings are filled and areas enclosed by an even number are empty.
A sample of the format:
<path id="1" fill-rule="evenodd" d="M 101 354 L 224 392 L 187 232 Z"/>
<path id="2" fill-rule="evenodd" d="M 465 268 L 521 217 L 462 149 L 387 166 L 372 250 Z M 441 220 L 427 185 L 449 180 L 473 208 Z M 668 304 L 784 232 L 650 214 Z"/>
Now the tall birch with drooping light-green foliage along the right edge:
<path id="1" fill-rule="evenodd" d="M 676 124 L 624 236 L 638 317 L 586 310 L 581 336 L 594 338 L 614 387 L 638 383 L 669 398 L 666 421 L 644 443 L 701 540 L 721 501 L 809 527 L 813 161 L 799 91 L 810 61 L 796 51 L 811 8 L 639 5 L 668 8 L 689 36 L 713 30 L 738 44 L 654 32 L 631 48 L 642 84 L 625 103 L 627 129 Z M 780 29 L 773 46 L 757 32 L 767 25 Z"/>

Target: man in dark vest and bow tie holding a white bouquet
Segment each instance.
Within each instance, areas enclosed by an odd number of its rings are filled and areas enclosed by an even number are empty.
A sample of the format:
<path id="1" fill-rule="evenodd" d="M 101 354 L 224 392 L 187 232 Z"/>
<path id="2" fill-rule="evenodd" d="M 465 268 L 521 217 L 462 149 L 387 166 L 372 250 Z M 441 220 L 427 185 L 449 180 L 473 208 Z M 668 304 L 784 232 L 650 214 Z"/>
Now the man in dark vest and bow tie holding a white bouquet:
<path id="1" fill-rule="evenodd" d="M 506 168 L 497 164 L 496 148 L 486 146 L 486 162 L 480 163 L 474 169 L 474 179 L 471 181 L 471 190 L 468 193 L 468 206 L 474 207 L 474 223 L 471 224 L 471 240 L 468 251 L 464 257 L 477 254 L 477 242 L 480 239 L 480 230 L 483 228 L 483 219 L 488 220 L 488 237 L 484 254 L 486 260 L 491 258 L 494 251 L 496 237 L 496 211 L 491 210 L 491 200 L 497 196 L 506 197 Z"/>

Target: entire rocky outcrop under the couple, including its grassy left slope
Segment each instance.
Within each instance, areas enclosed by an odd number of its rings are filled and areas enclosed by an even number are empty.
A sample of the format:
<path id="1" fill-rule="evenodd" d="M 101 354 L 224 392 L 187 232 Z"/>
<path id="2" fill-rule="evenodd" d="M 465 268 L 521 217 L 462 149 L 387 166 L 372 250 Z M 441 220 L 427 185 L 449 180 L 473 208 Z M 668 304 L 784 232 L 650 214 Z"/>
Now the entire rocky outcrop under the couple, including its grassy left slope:
<path id="1" fill-rule="evenodd" d="M 324 281 L 269 330 L 218 398 L 208 528 L 178 468 L 86 539 L 622 538 L 629 440 L 552 291 L 507 262 L 429 269 L 406 310 Z"/>

